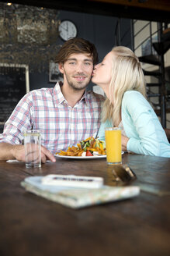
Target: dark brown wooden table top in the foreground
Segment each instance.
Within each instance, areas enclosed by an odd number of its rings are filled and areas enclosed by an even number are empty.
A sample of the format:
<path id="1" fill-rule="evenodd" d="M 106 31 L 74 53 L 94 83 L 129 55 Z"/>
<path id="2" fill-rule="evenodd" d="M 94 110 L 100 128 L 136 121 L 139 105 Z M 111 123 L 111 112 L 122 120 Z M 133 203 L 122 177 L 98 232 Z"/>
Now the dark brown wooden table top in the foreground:
<path id="1" fill-rule="evenodd" d="M 138 197 L 73 210 L 20 186 L 36 175 L 22 162 L 0 162 L 1 256 L 169 256 L 170 158 L 123 155 L 137 175 L 133 185 L 161 190 L 141 191 Z M 111 184 L 106 159 L 48 162 L 39 175 L 49 173 L 102 176 Z"/>

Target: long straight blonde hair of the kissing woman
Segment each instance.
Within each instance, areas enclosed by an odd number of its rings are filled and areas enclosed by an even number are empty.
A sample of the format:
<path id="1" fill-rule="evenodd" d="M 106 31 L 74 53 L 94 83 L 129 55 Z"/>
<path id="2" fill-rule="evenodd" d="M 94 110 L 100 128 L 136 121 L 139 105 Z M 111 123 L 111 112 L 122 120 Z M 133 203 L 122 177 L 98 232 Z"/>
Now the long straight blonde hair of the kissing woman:
<path id="1" fill-rule="evenodd" d="M 146 97 L 144 73 L 141 63 L 130 48 L 117 46 L 112 49 L 112 78 L 109 84 L 109 98 L 102 108 L 102 122 L 106 119 L 116 126 L 120 123 L 121 104 L 126 91 L 139 91 Z"/>

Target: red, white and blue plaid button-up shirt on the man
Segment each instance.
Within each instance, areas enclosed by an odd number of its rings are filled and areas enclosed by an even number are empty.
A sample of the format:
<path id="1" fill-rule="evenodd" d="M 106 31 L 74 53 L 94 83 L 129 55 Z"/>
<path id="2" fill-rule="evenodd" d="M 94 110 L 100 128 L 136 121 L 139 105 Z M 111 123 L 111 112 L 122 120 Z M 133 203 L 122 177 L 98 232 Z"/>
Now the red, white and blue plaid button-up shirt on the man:
<path id="1" fill-rule="evenodd" d="M 95 137 L 100 126 L 102 95 L 85 91 L 72 108 L 68 105 L 61 87 L 30 91 L 16 105 L 0 142 L 21 144 L 23 131 L 38 129 L 42 145 L 52 153 L 66 150 L 87 137 Z"/>

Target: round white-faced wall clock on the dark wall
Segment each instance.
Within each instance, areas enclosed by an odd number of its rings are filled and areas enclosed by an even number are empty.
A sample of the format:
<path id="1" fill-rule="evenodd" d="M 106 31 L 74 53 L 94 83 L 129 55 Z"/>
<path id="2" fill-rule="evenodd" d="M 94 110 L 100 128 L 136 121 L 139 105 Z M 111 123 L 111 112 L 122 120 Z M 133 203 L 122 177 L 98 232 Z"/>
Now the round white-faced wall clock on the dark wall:
<path id="1" fill-rule="evenodd" d="M 70 20 L 62 21 L 58 30 L 60 37 L 64 41 L 67 41 L 70 37 L 76 37 L 78 33 L 77 27 L 75 27 L 75 24 L 72 23 Z"/>

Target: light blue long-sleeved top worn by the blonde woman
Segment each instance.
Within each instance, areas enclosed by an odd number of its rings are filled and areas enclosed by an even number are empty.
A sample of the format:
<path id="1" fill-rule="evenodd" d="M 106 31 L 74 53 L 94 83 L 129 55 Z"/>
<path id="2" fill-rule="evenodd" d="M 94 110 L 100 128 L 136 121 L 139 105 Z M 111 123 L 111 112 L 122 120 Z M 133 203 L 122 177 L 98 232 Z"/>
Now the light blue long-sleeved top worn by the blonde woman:
<path id="1" fill-rule="evenodd" d="M 127 137 L 127 151 L 141 155 L 170 158 L 170 144 L 158 116 L 149 102 L 138 91 L 126 91 L 121 108 L 122 122 Z M 105 140 L 105 128 L 113 126 L 108 120 L 99 129 L 99 139 Z"/>

